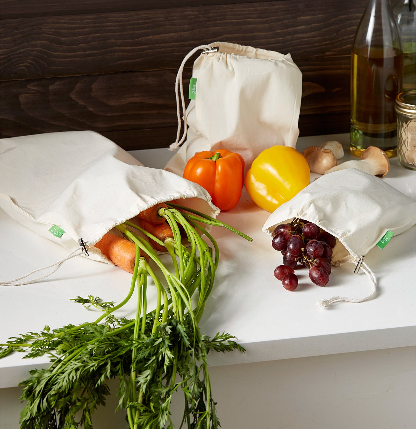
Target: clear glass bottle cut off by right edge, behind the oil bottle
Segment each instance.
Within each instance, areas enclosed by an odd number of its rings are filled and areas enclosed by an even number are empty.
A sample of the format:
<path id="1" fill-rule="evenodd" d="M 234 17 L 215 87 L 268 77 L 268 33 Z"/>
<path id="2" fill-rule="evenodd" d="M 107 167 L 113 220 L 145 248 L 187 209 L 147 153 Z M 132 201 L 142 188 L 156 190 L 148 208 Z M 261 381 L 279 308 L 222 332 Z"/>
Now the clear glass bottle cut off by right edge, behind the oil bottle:
<path id="1" fill-rule="evenodd" d="M 416 89 L 416 0 L 392 3 L 403 49 L 403 91 Z"/>

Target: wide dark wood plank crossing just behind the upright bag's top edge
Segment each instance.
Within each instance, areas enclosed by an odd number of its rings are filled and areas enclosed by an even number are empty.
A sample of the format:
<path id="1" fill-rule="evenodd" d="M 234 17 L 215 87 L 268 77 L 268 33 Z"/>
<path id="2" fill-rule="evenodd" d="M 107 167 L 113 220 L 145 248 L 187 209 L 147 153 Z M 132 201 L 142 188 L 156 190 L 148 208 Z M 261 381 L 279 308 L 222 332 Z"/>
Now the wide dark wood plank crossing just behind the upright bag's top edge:
<path id="1" fill-rule="evenodd" d="M 348 55 L 363 0 L 281 0 L 2 21 L 0 78 L 177 69 L 202 43 L 225 40 L 297 61 Z"/>

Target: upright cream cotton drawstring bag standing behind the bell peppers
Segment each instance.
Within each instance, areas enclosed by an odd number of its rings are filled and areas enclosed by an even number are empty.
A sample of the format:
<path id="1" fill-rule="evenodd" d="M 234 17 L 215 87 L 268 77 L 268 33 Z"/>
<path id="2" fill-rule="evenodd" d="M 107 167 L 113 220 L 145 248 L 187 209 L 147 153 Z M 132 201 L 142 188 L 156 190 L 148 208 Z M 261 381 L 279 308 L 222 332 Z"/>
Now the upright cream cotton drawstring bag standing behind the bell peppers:
<path id="1" fill-rule="evenodd" d="M 204 52 L 193 64 L 189 95 L 194 99 L 184 114 L 185 131 L 180 139 L 179 92 L 185 110 L 182 71 L 199 49 Z M 182 175 L 187 161 L 197 152 L 224 148 L 239 153 L 247 170 L 266 148 L 294 148 L 301 91 L 302 75 L 290 54 L 226 42 L 193 49 L 176 79 L 178 134 L 171 149 L 187 139 L 166 169 Z"/>

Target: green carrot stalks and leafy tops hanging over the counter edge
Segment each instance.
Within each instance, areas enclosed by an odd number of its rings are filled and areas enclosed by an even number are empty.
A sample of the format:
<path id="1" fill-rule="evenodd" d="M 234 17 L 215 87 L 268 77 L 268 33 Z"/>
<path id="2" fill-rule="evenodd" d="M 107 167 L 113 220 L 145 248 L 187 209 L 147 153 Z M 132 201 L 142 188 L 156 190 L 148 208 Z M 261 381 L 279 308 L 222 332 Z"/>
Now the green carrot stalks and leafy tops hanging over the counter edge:
<path id="1" fill-rule="evenodd" d="M 188 212 L 178 211 L 177 208 Z M 179 386 L 185 393 L 184 418 L 181 427 L 185 421 L 188 428 L 204 425 L 208 429 L 211 423 L 214 425 L 216 421 L 214 420 L 215 403 L 212 399 L 206 359 L 208 350 L 210 347 L 223 351 L 233 348 L 241 350 L 242 348 L 231 341 L 230 338 L 233 337 L 228 334 L 217 334 L 212 340 L 209 340 L 199 331 L 198 321 L 202 316 L 205 302 L 211 294 L 219 260 L 217 243 L 199 223 L 228 227 L 238 235 L 251 239 L 234 228 L 195 210 L 170 205 L 169 208 L 163 208 L 160 212 L 166 218 L 174 236 L 173 240 L 164 243 L 159 240 L 172 257 L 174 272 L 170 272 L 164 266 L 151 245 L 132 229 L 139 230 L 155 242 L 157 242 L 157 237 L 146 233 L 130 222 L 118 225 L 116 228 L 133 242 L 136 248 L 135 268 L 126 298 L 119 305 L 114 305 L 114 303 L 101 303 L 99 299 L 93 297 L 89 297 L 89 299 L 78 297 L 76 301 L 102 308 L 103 314 L 93 323 L 69 325 L 59 332 L 50 333 L 49 328 L 47 330 L 45 328 L 42 334 L 27 334 L 24 338 L 18 338 L 13 344 L 16 350 L 23 350 L 24 347 L 32 348 L 33 355 L 36 354 L 36 347 L 39 349 L 39 354 L 48 350 L 45 341 L 50 341 L 51 350 L 52 347 L 60 348 L 57 352 L 60 356 L 54 358 L 49 369 L 50 374 L 47 375 L 47 379 L 41 387 L 37 387 L 35 384 L 37 372 L 31 379 L 24 382 L 22 399 L 28 400 L 28 404 L 21 416 L 22 429 L 31 429 L 35 425 L 38 427 L 40 419 L 46 421 L 45 415 L 49 412 L 54 414 L 56 410 L 63 413 L 60 416 L 62 422 L 64 418 L 69 419 L 68 425 L 75 427 L 75 420 L 72 422 L 69 411 L 62 411 L 59 408 L 60 399 L 51 399 L 51 392 L 63 389 L 63 386 L 65 389 L 70 389 L 71 386 L 76 389 L 81 388 L 79 393 L 70 396 L 71 399 L 65 403 L 65 410 L 80 409 L 81 401 L 84 401 L 84 394 L 89 396 L 94 392 L 98 398 L 94 401 L 97 401 L 96 403 L 102 401 L 102 393 L 98 393 L 101 392 L 99 386 L 107 378 L 115 375 L 121 379 L 122 396 L 119 405 L 126 408 L 130 429 L 145 426 L 156 427 L 156 424 L 157 427 L 165 427 L 168 420 L 172 423 L 169 414 L 166 414 L 166 409 L 163 407 L 169 408 L 172 393 Z M 181 243 L 179 225 L 187 234 L 190 250 Z M 205 234 L 213 248 L 208 246 L 197 231 Z M 140 250 L 144 250 L 149 255 L 160 269 L 162 279 L 164 278 L 166 283 L 162 283 L 145 259 L 139 257 Z M 147 312 L 148 275 L 151 276 L 157 290 L 156 307 L 149 313 Z M 165 287 L 169 289 L 170 299 L 168 299 Z M 129 322 L 125 319 L 116 319 L 112 313 L 129 301 L 135 289 L 137 290 L 135 320 Z M 192 296 L 196 289 L 199 290 L 199 297 L 195 304 Z M 99 324 L 103 319 L 105 319 L 104 323 Z M 100 336 L 96 335 L 97 332 L 100 333 Z M 160 341 L 158 338 L 165 337 L 159 335 L 166 335 L 166 340 Z M 144 347 L 142 344 L 146 344 L 146 349 L 154 347 L 151 350 L 157 357 L 157 360 L 154 361 L 155 366 L 152 363 L 152 371 L 149 376 L 145 371 L 149 363 L 146 362 L 145 357 L 141 357 L 144 354 L 139 353 L 141 347 Z M 169 350 L 169 344 L 174 344 L 173 350 Z M 12 347 L 10 343 L 5 345 Z M 111 365 L 112 361 L 109 360 L 106 353 L 110 353 L 112 358 L 116 358 L 117 353 L 121 353 L 121 361 L 118 361 L 117 369 L 115 364 Z M 121 364 L 121 362 L 125 362 L 125 359 L 130 359 L 130 357 L 131 367 L 130 371 L 126 373 L 125 364 Z M 87 368 L 85 368 L 86 362 L 90 365 Z M 97 366 L 95 366 L 95 362 L 97 362 Z M 201 365 L 199 366 L 199 364 Z M 101 368 L 101 365 L 104 369 Z M 192 369 L 192 373 L 189 372 L 186 375 L 186 371 L 191 371 L 190 369 Z M 175 383 L 177 373 L 182 376 L 183 381 L 180 383 Z M 166 384 L 164 384 L 165 381 Z M 152 384 L 155 386 L 150 388 Z M 159 390 L 166 392 L 167 396 L 157 396 L 155 392 Z M 63 394 L 67 395 L 68 392 L 70 390 L 65 390 Z M 78 397 L 78 395 L 80 396 Z M 85 423 L 85 427 L 87 427 L 94 403 L 85 402 L 85 405 L 82 406 L 84 408 L 81 423 Z M 203 409 L 201 409 L 202 406 Z M 141 426 L 141 422 L 146 423 Z M 39 426 L 40 428 L 45 429 L 44 426 Z"/>

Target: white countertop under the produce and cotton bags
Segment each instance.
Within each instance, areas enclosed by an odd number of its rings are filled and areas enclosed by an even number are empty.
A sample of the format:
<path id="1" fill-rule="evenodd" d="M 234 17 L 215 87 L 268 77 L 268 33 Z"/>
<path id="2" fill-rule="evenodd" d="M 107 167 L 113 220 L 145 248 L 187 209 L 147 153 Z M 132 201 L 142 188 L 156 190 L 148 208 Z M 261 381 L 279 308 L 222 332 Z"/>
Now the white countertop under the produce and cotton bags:
<path id="1" fill-rule="evenodd" d="M 298 150 L 338 139 L 348 147 L 348 135 L 304 137 Z M 146 166 L 161 167 L 172 156 L 167 149 L 132 151 Z M 351 159 L 347 154 L 344 160 Z M 416 199 L 416 172 L 390 160 L 385 180 Z M 316 177 L 313 175 L 312 180 Z M 241 201 L 219 219 L 253 237 L 249 243 L 230 231 L 213 228 L 220 248 L 220 264 L 212 296 L 200 322 L 202 333 L 229 332 L 247 349 L 246 353 L 212 353 L 211 366 L 261 362 L 303 356 L 317 356 L 359 350 L 404 347 L 416 344 L 416 229 L 393 236 L 383 249 L 373 248 L 365 260 L 378 279 L 377 296 L 353 304 L 335 302 L 328 308 L 315 305 L 317 299 L 334 295 L 361 297 L 371 284 L 354 266 L 334 267 L 329 284 L 312 284 L 307 270 L 296 270 L 299 285 L 293 292 L 283 289 L 273 271 L 282 262 L 271 239 L 261 232 L 269 213 L 257 207 L 243 191 Z M 416 214 L 415 214 L 416 215 Z M 1 279 L 8 280 L 47 265 L 67 251 L 0 214 Z M 37 332 L 46 324 L 58 328 L 67 323 L 95 320 L 96 311 L 85 310 L 69 301 L 78 295 L 95 295 L 120 302 L 130 288 L 130 274 L 118 267 L 76 257 L 68 260 L 41 283 L 0 287 L 0 341 L 27 331 Z M 133 318 L 134 296 L 119 312 Z M 22 359 L 14 353 L 0 360 L 0 387 L 17 386 L 28 369 L 47 366 L 45 357 Z"/>

